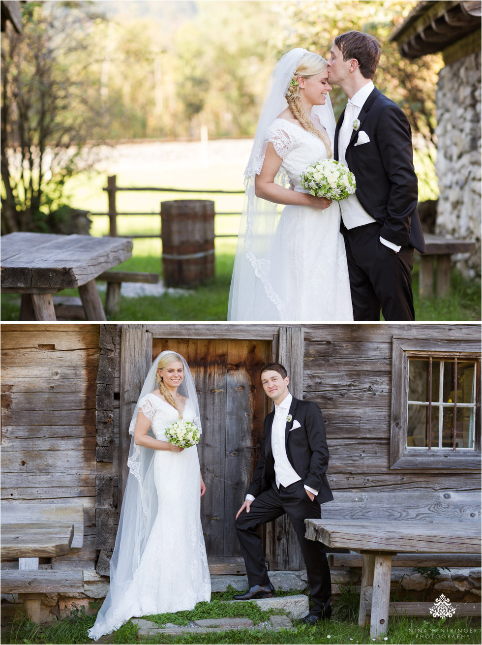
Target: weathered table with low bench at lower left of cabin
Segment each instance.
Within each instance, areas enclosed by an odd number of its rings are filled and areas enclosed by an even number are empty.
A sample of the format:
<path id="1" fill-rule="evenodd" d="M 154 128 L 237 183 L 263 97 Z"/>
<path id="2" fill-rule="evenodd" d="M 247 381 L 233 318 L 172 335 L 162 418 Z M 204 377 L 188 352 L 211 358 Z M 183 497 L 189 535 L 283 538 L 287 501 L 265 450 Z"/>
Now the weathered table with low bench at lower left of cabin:
<path id="1" fill-rule="evenodd" d="M 39 571 L 40 557 L 67 555 L 73 540 L 73 524 L 64 522 L 3 523 L 1 526 L 2 559 L 19 559 L 18 570 L 2 571 L 1 592 L 19 593 L 30 620 L 40 621 L 41 598 L 46 584 L 59 591 L 65 582 L 66 571 Z M 82 591 L 82 572 L 75 573 L 77 590 Z M 79 578 L 79 580 L 77 580 Z M 69 589 L 72 590 L 72 581 Z M 26 591 L 26 593 L 25 593 Z"/>

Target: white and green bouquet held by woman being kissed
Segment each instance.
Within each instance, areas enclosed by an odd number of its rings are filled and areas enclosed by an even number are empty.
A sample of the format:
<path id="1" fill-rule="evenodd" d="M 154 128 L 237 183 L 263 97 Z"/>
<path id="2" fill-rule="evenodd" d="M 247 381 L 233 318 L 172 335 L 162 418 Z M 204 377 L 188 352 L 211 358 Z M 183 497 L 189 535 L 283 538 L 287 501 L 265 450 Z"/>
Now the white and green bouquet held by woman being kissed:
<path id="1" fill-rule="evenodd" d="M 307 188 L 309 194 L 316 197 L 340 201 L 356 190 L 355 175 L 347 166 L 334 159 L 312 163 L 300 177 L 303 188 Z"/>

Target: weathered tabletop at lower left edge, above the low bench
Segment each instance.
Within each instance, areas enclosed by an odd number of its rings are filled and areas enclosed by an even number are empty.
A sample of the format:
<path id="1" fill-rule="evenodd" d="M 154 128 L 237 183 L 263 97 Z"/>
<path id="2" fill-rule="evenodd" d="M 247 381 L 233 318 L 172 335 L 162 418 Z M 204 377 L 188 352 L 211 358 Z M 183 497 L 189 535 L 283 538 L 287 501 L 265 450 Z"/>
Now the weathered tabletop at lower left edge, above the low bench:
<path id="1" fill-rule="evenodd" d="M 72 540 L 73 524 L 61 522 L 11 524 L 3 521 L 1 557 L 9 560 L 66 555 L 70 551 Z"/>

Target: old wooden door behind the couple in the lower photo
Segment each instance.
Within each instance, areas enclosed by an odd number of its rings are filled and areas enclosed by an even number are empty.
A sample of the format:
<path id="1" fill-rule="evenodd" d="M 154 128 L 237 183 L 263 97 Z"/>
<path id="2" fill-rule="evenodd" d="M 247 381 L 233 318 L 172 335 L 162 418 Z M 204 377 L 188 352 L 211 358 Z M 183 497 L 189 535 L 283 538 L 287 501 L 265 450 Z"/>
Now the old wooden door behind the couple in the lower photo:
<path id="1" fill-rule="evenodd" d="M 229 560 L 241 555 L 235 515 L 259 457 L 269 412 L 260 369 L 271 360 L 271 343 L 153 338 L 152 360 L 163 350 L 181 353 L 193 373 L 202 422 L 199 461 L 207 488 L 201 501 L 206 550 L 211 561 Z"/>

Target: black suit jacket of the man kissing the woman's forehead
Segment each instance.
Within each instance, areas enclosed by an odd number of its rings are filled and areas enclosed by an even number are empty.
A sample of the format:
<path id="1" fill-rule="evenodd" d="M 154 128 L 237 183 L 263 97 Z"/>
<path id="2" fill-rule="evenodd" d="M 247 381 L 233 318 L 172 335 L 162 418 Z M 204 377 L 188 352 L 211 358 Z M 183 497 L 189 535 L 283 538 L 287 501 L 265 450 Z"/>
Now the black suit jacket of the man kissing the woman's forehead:
<path id="1" fill-rule="evenodd" d="M 338 160 L 338 133 L 334 158 Z M 417 210 L 418 187 L 413 165 L 410 124 L 398 105 L 374 88 L 358 116 L 360 128 L 352 130 L 345 160 L 356 179 L 361 206 L 380 224 L 380 237 L 400 246 L 413 246 L 425 253 L 425 240 Z M 355 146 L 363 130 L 369 143 Z"/>

